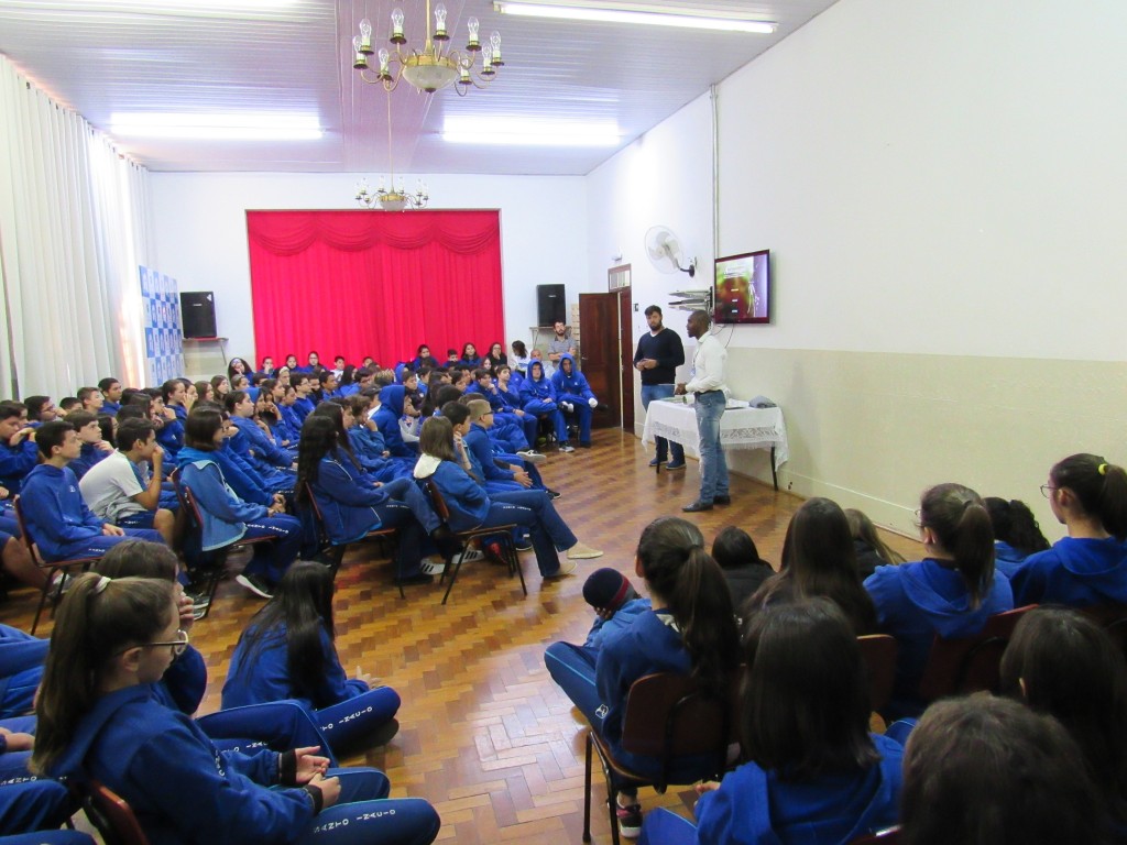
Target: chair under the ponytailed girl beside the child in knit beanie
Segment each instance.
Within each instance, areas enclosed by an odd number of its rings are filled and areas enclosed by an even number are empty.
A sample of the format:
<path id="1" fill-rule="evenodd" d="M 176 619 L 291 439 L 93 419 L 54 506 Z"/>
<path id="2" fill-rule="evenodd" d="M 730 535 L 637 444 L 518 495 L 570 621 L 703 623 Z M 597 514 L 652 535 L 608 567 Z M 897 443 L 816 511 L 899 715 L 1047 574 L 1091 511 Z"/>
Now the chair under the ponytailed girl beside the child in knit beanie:
<path id="1" fill-rule="evenodd" d="M 611 820 L 611 840 L 619 845 L 615 815 L 623 786 L 653 786 L 664 793 L 669 785 L 719 779 L 728 767 L 728 747 L 734 740 L 735 691 L 721 699 L 710 694 L 691 677 L 657 673 L 638 678 L 627 695 L 622 718 L 622 749 L 656 757 L 662 771 L 657 777 L 640 774 L 614 758 L 606 740 L 594 729 L 587 731 L 586 776 L 583 800 L 583 840 L 591 842 L 591 763 L 592 749 L 598 754 L 606 777 L 606 801 Z M 704 756 L 711 763 L 699 771 L 682 772 L 674 779 L 673 764 L 678 758 Z"/>

